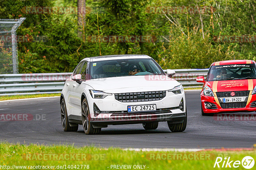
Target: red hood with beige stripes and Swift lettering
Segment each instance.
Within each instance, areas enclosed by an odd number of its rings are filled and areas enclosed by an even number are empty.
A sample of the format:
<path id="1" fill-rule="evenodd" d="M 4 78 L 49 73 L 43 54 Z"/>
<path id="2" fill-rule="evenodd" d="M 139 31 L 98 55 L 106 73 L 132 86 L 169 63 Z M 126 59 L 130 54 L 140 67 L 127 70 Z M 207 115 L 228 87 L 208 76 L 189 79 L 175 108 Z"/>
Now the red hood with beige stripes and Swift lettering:
<path id="1" fill-rule="evenodd" d="M 213 92 L 253 90 L 256 85 L 256 79 L 206 81 L 205 85 L 209 86 Z"/>

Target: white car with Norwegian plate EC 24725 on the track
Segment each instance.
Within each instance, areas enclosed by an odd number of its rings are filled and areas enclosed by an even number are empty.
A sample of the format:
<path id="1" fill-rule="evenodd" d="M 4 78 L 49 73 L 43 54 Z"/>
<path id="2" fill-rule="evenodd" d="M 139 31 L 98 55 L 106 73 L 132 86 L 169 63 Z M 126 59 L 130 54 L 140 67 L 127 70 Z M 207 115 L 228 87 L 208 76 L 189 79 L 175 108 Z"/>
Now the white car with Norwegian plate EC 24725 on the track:
<path id="1" fill-rule="evenodd" d="M 116 124 L 142 124 L 156 129 L 167 121 L 172 132 L 187 126 L 182 85 L 170 78 L 174 70 L 163 69 L 147 55 L 108 55 L 84 58 L 66 80 L 61 92 L 64 131 L 99 134 Z"/>

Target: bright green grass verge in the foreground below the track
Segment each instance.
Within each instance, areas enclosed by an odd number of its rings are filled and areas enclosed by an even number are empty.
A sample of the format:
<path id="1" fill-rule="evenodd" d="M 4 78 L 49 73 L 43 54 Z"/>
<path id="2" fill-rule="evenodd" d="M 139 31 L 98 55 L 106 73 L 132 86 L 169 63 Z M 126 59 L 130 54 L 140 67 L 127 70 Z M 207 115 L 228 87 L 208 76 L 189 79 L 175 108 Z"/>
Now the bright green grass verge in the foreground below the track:
<path id="1" fill-rule="evenodd" d="M 74 157 L 71 155 L 75 154 Z M 178 155 L 181 156 L 178 156 Z M 86 155 L 86 156 L 83 156 Z M 189 156 L 190 155 L 190 156 Z M 196 156 L 197 155 L 197 156 Z M 203 156 L 202 156 L 203 155 Z M 210 155 L 210 156 L 207 156 Z M 204 151 L 204 152 L 142 152 L 124 151 L 119 148 L 100 148 L 94 146 L 75 147 L 72 145 L 21 145 L 0 143 L 0 168 L 16 166 L 15 169 L 35 169 L 33 166 L 52 166 L 51 169 L 114 169 L 113 165 L 131 165 L 156 169 L 216 169 L 213 168 L 217 156 L 239 160 L 245 156 L 256 158 L 256 150 L 251 151 Z M 83 159 L 82 159 L 83 158 Z M 85 158 L 85 159 L 84 159 Z M 176 158 L 176 160 L 174 160 Z M 191 159 L 192 158 L 192 159 Z M 72 160 L 70 160 L 72 159 Z M 157 160 L 154 160 L 157 159 Z M 160 160 L 159 160 L 160 159 Z M 177 160 L 178 159 L 178 160 Z M 191 160 L 188 160 L 191 159 Z M 196 159 L 196 160 L 195 160 Z M 233 163 L 234 163 L 233 161 Z M 223 161 L 219 164 L 222 166 Z M 233 163 L 231 167 L 233 167 Z M 75 167 L 76 165 L 76 167 Z M 81 168 L 81 165 L 83 167 Z M 85 165 L 85 166 L 84 166 Z M 88 166 L 87 166 L 88 165 Z M 111 168 L 112 165 L 112 168 Z M 226 165 L 226 164 L 225 164 Z M 2 166 L 2 167 L 1 167 Z M 26 166 L 19 167 L 17 166 Z M 54 167 L 53 167 L 54 166 Z M 59 166 L 59 167 L 58 167 Z M 134 167 L 133 167 L 134 166 Z M 69 167 L 69 168 L 68 168 Z M 5 168 L 7 169 L 7 167 Z M 37 169 L 44 169 L 37 167 Z M 122 168 L 120 168 L 122 169 Z M 124 169 L 124 168 L 123 168 Z M 128 168 L 129 169 L 129 168 Z M 239 168 L 244 169 L 242 165 Z M 253 168 L 252 168 L 253 169 Z"/>

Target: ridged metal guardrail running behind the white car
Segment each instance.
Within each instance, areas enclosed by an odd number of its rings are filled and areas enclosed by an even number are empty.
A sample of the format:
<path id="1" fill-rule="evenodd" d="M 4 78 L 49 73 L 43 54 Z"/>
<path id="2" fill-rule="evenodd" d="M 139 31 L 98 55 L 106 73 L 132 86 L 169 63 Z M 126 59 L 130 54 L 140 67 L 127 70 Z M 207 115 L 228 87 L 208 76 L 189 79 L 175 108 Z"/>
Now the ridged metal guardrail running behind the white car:
<path id="1" fill-rule="evenodd" d="M 176 69 L 173 79 L 184 88 L 202 87 L 196 77 L 206 76 L 208 69 Z M 166 70 L 164 70 L 166 73 Z M 0 74 L 0 96 L 60 93 L 72 73 Z"/>

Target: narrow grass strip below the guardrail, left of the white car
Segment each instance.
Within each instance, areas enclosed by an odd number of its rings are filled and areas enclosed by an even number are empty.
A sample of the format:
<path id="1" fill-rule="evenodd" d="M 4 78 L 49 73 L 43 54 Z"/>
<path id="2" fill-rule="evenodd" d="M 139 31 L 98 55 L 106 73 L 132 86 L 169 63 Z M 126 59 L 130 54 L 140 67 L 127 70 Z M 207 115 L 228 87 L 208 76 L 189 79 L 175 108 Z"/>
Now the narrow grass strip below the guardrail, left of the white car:
<path id="1" fill-rule="evenodd" d="M 0 96 L 0 101 L 3 101 L 3 100 L 13 100 L 13 99 L 28 99 L 28 98 L 35 98 L 35 97 L 51 97 L 51 96 L 60 96 L 60 93 L 36 94 L 36 95 Z"/>

